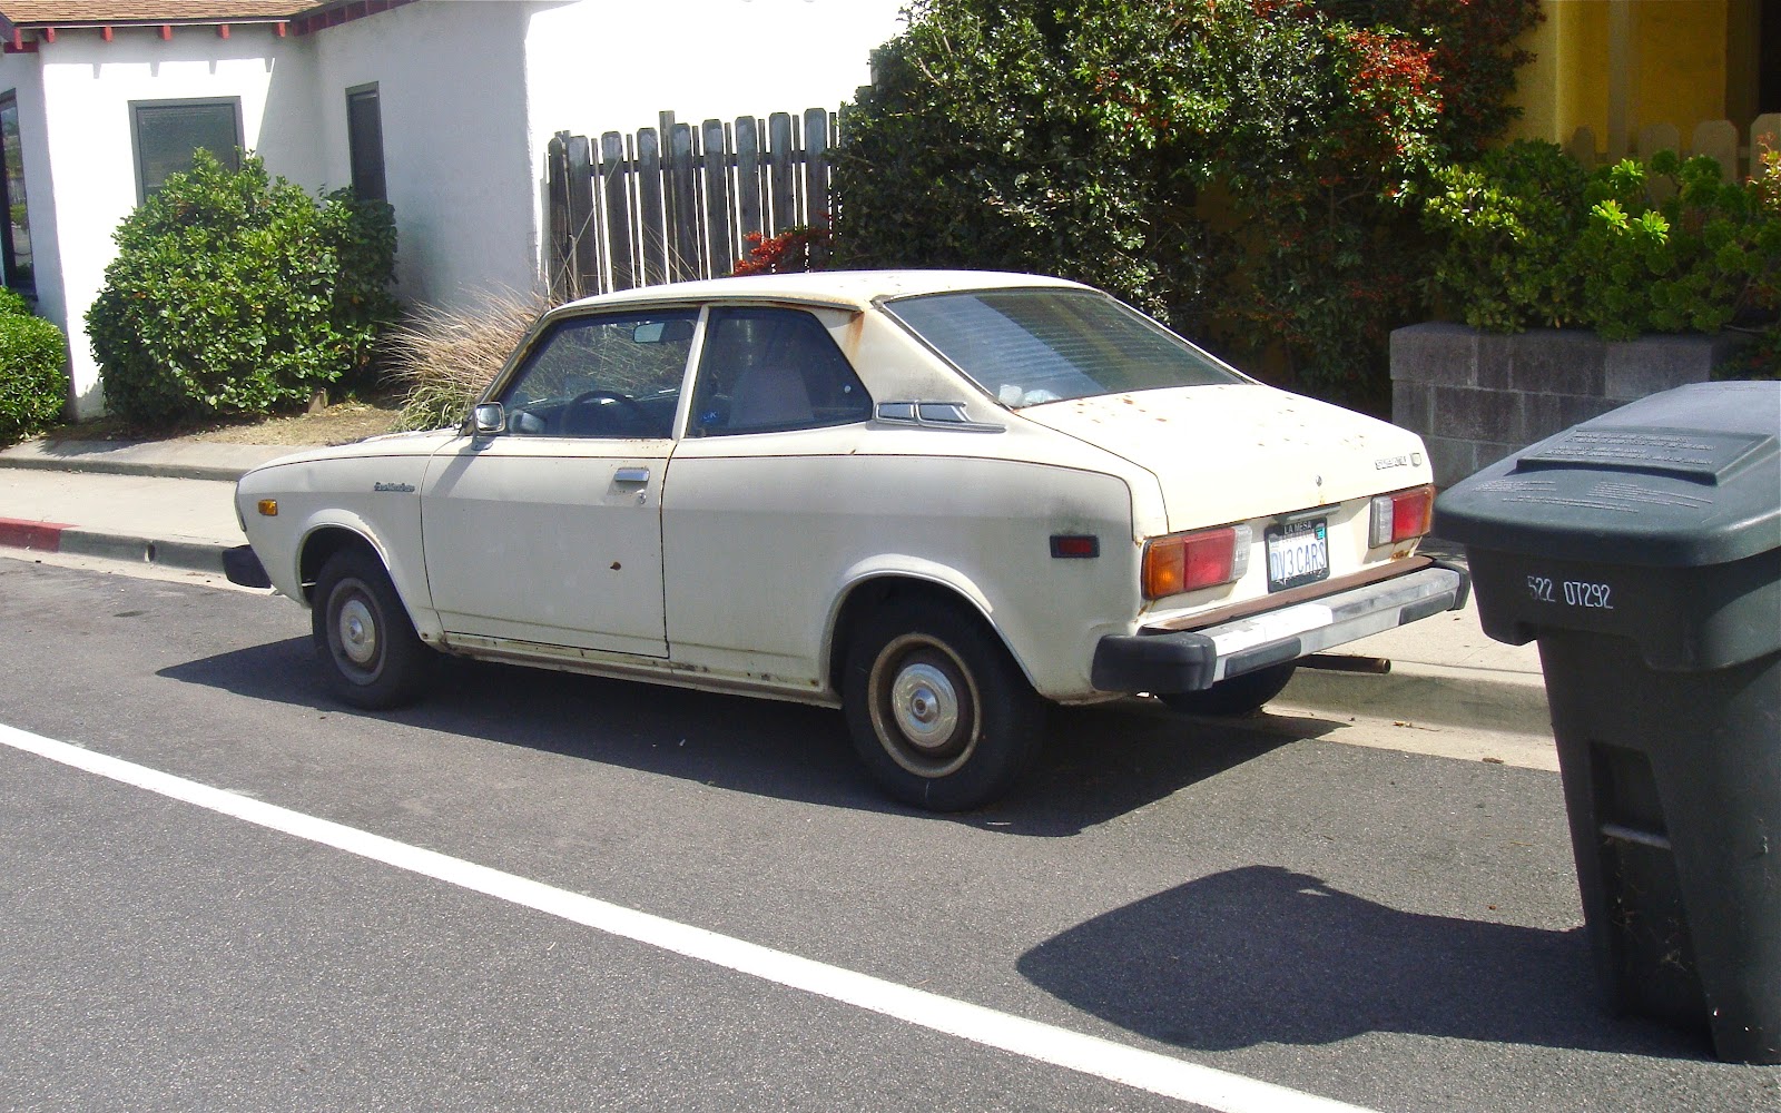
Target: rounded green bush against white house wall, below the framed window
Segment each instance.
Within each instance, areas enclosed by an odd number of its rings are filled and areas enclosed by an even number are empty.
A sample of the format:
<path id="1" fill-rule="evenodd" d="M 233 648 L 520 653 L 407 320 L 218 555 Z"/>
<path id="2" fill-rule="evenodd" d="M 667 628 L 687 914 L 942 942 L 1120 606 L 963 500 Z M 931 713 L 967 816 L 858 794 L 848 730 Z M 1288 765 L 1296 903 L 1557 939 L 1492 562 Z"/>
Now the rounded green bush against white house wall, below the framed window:
<path id="1" fill-rule="evenodd" d="M 397 308 L 388 205 L 312 198 L 251 153 L 228 171 L 198 151 L 114 239 L 87 333 L 125 420 L 274 413 L 370 381 Z"/>

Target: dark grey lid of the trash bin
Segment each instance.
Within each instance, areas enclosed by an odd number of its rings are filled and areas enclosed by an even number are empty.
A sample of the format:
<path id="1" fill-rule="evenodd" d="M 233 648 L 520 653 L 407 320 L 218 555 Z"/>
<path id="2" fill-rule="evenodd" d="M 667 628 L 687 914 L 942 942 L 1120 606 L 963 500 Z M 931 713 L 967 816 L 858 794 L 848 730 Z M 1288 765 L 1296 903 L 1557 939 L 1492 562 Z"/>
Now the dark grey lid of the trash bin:
<path id="1" fill-rule="evenodd" d="M 1696 383 L 1573 426 L 1443 492 L 1435 534 L 1667 568 L 1781 548 L 1781 383 Z"/>

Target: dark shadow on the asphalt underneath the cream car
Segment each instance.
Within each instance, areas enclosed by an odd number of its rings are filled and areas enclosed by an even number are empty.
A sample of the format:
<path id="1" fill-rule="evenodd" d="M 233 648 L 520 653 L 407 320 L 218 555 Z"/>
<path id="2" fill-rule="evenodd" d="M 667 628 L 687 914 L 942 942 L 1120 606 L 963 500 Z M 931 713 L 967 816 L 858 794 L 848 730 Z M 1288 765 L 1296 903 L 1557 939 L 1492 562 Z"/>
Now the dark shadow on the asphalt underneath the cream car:
<path id="1" fill-rule="evenodd" d="M 306 638 L 189 661 L 159 675 L 353 716 L 379 723 L 379 730 L 436 730 L 739 792 L 919 814 L 887 801 L 866 780 L 839 711 L 461 659 L 442 659 L 440 666 L 417 705 L 392 712 L 337 703 Z M 1298 737 L 1334 727 L 1295 721 Z M 997 805 L 947 819 L 997 833 L 1067 837 L 1291 741 L 1277 730 L 1186 719 L 1149 700 L 1060 707 L 1040 759 L 1015 791 Z"/>

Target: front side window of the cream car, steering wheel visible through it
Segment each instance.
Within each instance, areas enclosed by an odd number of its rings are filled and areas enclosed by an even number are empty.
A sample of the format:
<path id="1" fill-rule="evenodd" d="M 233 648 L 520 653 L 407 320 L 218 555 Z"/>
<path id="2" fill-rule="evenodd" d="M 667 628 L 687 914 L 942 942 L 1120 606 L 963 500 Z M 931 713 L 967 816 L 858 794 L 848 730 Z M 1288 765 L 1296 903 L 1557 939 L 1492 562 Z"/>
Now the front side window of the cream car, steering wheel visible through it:
<path id="1" fill-rule="evenodd" d="M 566 317 L 497 399 L 520 436 L 673 435 L 696 310 Z"/>

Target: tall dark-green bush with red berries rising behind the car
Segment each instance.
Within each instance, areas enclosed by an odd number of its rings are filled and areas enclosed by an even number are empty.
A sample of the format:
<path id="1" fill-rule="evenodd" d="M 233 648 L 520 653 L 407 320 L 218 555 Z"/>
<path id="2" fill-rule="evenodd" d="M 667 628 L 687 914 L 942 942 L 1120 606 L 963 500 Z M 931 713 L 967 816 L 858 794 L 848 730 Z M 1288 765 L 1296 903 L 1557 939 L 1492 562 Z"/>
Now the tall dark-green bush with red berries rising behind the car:
<path id="1" fill-rule="evenodd" d="M 915 0 L 844 118 L 837 256 L 1078 278 L 1377 406 L 1428 265 L 1407 198 L 1510 118 L 1537 20 L 1473 7 Z"/>

